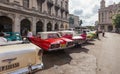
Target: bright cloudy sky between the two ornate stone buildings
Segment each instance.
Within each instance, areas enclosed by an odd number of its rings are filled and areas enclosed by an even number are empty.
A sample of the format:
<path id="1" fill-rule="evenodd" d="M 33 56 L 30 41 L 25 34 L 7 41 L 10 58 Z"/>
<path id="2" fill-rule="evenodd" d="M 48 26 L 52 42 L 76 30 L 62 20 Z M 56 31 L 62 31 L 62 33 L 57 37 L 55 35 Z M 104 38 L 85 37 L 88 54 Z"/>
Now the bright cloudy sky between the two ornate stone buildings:
<path id="1" fill-rule="evenodd" d="M 101 0 L 69 0 L 69 12 L 83 20 L 82 26 L 94 25 L 98 20 Z M 106 6 L 119 3 L 120 0 L 105 0 Z"/>

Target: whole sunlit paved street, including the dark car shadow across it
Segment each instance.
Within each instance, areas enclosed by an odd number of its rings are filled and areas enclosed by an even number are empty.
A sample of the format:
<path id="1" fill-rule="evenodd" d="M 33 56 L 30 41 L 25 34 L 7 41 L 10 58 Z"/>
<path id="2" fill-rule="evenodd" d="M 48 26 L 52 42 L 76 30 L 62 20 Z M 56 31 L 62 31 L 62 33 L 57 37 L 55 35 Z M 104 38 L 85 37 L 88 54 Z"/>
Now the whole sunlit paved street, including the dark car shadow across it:
<path id="1" fill-rule="evenodd" d="M 119 74 L 119 42 L 119 34 L 106 33 L 82 48 L 45 53 L 44 69 L 36 74 Z"/>

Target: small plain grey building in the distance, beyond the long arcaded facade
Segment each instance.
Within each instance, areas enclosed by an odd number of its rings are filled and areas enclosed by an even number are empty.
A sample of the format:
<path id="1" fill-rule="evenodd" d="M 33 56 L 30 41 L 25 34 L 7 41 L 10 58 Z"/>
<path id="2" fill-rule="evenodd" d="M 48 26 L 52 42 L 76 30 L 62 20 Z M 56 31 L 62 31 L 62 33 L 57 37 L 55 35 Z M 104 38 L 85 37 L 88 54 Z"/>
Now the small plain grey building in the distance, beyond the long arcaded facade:
<path id="1" fill-rule="evenodd" d="M 80 24 L 79 16 L 69 14 L 68 17 L 69 17 L 69 28 L 79 27 Z"/>

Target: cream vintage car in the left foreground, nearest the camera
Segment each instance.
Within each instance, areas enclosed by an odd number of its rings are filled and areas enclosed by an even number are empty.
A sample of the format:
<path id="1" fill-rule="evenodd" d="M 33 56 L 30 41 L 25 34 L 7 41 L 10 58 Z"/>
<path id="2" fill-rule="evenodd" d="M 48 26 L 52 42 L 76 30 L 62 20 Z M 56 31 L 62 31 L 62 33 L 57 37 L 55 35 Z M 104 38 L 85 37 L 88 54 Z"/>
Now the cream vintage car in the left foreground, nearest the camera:
<path id="1" fill-rule="evenodd" d="M 26 74 L 42 67 L 40 47 L 23 41 L 0 41 L 0 74 Z"/>

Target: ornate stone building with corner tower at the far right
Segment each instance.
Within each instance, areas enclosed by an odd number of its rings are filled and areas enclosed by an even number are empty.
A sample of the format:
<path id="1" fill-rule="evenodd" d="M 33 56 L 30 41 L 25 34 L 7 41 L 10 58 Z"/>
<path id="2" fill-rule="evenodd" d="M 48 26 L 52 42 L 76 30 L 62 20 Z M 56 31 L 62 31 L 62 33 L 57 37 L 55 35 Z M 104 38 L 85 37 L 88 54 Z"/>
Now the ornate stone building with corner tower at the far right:
<path id="1" fill-rule="evenodd" d="M 112 19 L 116 14 L 120 12 L 120 3 L 109 5 L 106 7 L 105 0 L 100 3 L 99 9 L 99 27 L 100 29 L 105 29 L 105 31 L 115 30 L 115 26 L 112 24 Z"/>

